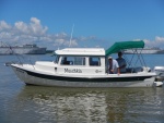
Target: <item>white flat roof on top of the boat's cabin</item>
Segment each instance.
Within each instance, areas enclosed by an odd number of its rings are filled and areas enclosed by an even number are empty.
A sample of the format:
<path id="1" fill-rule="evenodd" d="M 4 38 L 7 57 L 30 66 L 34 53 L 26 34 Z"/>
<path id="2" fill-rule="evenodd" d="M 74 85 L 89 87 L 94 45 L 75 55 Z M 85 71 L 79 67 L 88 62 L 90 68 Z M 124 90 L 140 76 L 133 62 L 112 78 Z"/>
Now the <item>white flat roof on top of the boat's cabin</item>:
<path id="1" fill-rule="evenodd" d="M 105 56 L 104 48 L 65 48 L 56 50 L 56 54 L 60 56 Z"/>

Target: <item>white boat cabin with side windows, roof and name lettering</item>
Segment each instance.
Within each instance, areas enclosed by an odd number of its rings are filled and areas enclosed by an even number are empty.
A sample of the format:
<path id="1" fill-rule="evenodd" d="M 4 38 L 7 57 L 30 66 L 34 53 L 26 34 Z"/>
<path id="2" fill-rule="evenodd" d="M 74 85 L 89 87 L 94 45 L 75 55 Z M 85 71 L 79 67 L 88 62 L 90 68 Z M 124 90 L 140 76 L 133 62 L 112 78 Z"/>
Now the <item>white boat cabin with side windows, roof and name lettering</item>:
<path id="1" fill-rule="evenodd" d="M 103 48 L 67 48 L 56 50 L 55 71 L 73 74 L 105 74 L 105 50 Z"/>

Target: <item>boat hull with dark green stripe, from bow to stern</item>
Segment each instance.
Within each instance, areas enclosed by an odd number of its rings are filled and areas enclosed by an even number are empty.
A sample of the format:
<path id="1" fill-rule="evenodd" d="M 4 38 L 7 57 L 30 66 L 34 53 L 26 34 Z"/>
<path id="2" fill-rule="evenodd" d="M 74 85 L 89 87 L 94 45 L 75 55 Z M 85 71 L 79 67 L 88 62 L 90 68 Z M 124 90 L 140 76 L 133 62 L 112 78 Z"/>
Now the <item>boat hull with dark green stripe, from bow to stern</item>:
<path id="1" fill-rule="evenodd" d="M 63 76 L 57 74 L 42 74 L 11 65 L 17 77 L 25 84 L 60 87 L 152 87 L 155 75 L 147 76 L 110 76 L 98 77 Z"/>

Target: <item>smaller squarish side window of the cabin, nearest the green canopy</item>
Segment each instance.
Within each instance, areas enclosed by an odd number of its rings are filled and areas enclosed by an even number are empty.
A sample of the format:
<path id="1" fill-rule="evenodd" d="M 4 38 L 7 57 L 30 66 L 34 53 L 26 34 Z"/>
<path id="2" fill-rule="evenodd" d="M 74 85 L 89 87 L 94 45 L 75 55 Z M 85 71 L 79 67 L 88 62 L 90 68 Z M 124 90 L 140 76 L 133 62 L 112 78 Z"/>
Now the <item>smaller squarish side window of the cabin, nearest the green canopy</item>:
<path id="1" fill-rule="evenodd" d="M 101 58 L 99 57 L 91 57 L 89 62 L 90 62 L 91 66 L 101 66 Z"/>

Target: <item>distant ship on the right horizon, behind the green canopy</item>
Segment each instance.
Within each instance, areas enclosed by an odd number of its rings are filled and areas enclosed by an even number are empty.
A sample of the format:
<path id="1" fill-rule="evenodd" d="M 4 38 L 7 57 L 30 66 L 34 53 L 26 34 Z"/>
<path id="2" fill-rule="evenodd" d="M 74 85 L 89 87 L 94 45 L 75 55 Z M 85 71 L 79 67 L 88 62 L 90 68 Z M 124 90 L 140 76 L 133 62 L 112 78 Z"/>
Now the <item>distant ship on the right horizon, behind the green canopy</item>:
<path id="1" fill-rule="evenodd" d="M 125 53 L 164 53 L 164 50 L 160 48 L 143 48 L 143 49 L 133 49 L 133 50 L 124 50 Z"/>

